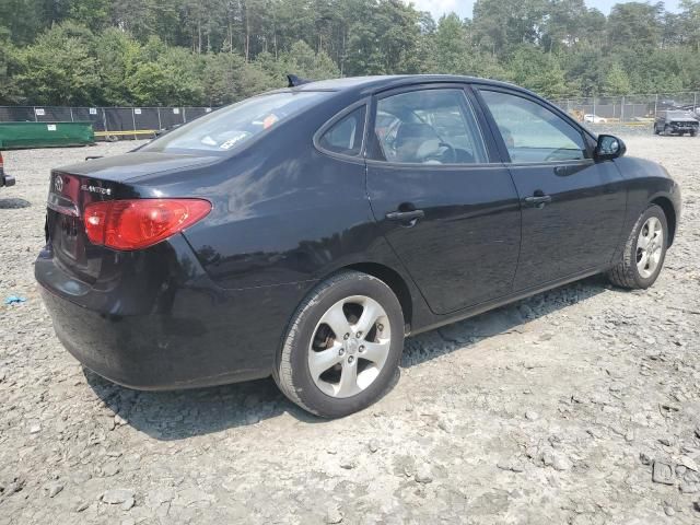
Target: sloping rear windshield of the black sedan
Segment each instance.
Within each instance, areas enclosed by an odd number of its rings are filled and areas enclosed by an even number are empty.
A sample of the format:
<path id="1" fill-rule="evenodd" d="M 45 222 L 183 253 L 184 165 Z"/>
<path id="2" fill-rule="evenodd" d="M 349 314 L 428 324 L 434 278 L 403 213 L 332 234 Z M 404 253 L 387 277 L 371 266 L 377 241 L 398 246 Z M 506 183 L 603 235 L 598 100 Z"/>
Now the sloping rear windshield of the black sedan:
<path id="1" fill-rule="evenodd" d="M 226 153 L 329 95 L 328 92 L 304 91 L 247 98 L 174 129 L 147 144 L 141 151 L 195 150 Z"/>

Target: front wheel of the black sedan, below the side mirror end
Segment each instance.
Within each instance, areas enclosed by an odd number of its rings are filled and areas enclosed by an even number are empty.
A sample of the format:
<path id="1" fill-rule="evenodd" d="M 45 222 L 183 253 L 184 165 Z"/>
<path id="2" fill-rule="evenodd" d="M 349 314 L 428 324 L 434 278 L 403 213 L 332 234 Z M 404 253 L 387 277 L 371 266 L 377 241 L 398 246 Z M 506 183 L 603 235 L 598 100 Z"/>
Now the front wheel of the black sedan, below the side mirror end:
<path id="1" fill-rule="evenodd" d="M 618 264 L 608 271 L 612 284 L 630 290 L 646 289 L 658 277 L 668 245 L 668 223 L 661 207 L 652 205 L 632 228 Z"/>

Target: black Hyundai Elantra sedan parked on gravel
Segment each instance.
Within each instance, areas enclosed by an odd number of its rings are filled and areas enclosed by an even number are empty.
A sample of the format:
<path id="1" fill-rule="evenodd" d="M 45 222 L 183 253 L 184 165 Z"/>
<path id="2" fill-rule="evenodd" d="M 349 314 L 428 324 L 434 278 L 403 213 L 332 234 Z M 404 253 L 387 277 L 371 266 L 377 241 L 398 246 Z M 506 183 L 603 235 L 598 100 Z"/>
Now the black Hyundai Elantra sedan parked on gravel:
<path id="1" fill-rule="evenodd" d="M 387 389 L 409 334 L 594 273 L 650 287 L 680 191 L 625 150 L 505 83 L 292 86 L 54 170 L 36 279 L 110 381 L 272 375 L 340 417 Z"/>

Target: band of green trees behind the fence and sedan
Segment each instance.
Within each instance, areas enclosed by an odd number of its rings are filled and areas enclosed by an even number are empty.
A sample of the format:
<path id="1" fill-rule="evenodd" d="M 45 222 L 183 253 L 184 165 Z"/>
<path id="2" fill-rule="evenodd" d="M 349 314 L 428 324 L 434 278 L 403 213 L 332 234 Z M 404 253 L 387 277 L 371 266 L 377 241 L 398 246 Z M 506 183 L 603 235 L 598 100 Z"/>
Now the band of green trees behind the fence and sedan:
<path id="1" fill-rule="evenodd" d="M 222 105 L 326 79 L 456 73 L 545 96 L 700 90 L 700 0 L 0 0 L 0 104 Z"/>

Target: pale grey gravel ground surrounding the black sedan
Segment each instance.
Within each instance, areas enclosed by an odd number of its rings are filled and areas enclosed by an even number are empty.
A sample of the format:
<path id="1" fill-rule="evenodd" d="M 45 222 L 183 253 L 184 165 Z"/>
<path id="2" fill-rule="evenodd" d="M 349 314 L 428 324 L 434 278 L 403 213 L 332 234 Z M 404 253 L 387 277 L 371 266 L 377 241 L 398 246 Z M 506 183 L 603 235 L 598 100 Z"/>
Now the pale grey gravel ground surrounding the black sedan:
<path id="1" fill-rule="evenodd" d="M 48 170 L 132 145 L 5 154 L 0 524 L 700 523 L 700 139 L 628 140 L 684 190 L 651 290 L 587 279 L 409 339 L 337 421 L 271 381 L 129 390 L 61 348 L 32 265 Z"/>

